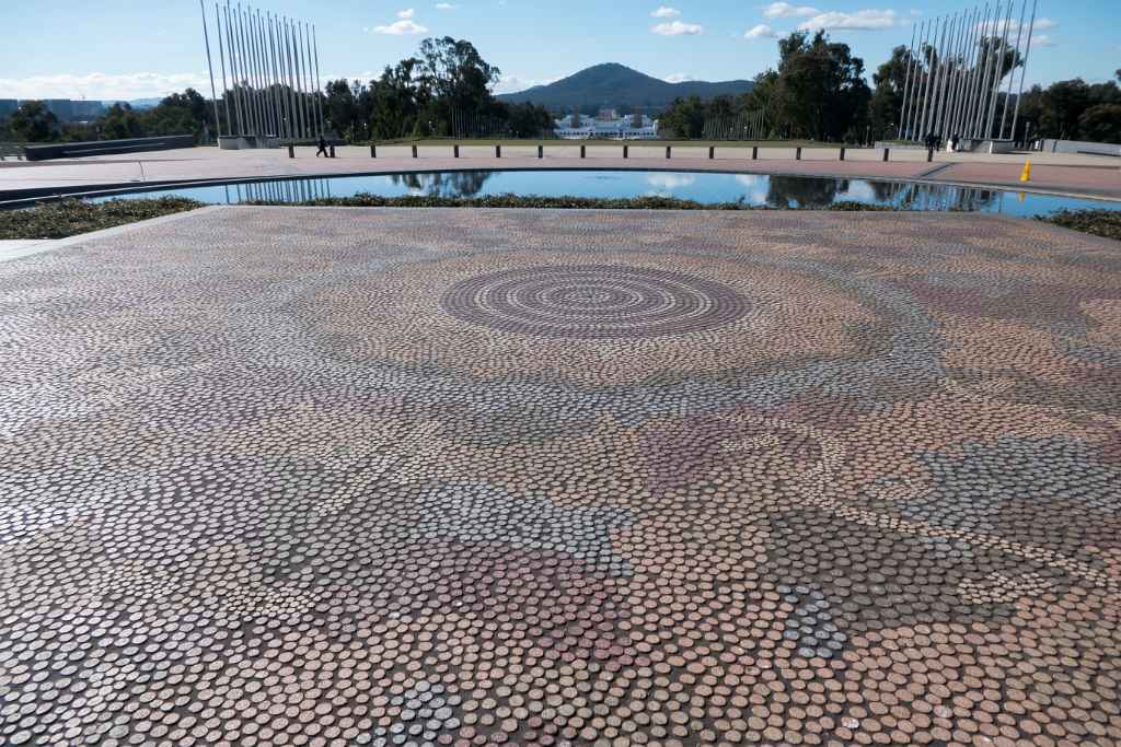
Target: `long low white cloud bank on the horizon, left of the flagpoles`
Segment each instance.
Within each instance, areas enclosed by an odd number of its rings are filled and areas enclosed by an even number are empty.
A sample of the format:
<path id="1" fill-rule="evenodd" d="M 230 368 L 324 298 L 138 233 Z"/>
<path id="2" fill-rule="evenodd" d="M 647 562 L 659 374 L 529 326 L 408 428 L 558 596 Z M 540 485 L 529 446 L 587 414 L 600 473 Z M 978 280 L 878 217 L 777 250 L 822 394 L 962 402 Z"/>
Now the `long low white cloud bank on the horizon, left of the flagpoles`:
<path id="1" fill-rule="evenodd" d="M 0 78 L 0 99 L 154 99 L 192 87 L 210 99 L 206 73 L 86 73 Z"/>

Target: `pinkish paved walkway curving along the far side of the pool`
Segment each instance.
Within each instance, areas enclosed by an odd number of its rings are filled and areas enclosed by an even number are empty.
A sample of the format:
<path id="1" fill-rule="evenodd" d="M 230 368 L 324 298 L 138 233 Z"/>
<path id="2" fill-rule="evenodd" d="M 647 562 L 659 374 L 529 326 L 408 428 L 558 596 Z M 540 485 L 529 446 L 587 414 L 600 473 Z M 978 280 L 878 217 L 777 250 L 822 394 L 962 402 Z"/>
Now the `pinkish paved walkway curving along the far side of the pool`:
<path id="1" fill-rule="evenodd" d="M 880 177 L 889 179 L 925 178 L 933 181 L 990 184 L 1023 187 L 1019 181 L 1023 156 L 972 156 L 938 153 L 934 164 L 926 152 L 893 150 L 890 162 L 879 150 L 849 150 L 840 161 L 833 148 L 805 149 L 795 160 L 790 148 L 759 150 L 759 160 L 745 149 L 720 149 L 708 159 L 704 148 L 675 148 L 667 160 L 664 147 L 630 146 L 622 158 L 621 146 L 589 146 L 587 158 L 580 158 L 577 147 L 546 149 L 543 159 L 531 147 L 503 148 L 494 158 L 493 148 L 464 147 L 461 158 L 452 158 L 450 147 L 425 147 L 419 158 L 411 158 L 405 146 L 381 147 L 378 158 L 368 148 L 340 148 L 337 158 L 315 158 L 314 149 L 299 148 L 289 159 L 287 151 L 219 151 L 193 148 L 179 151 L 143 153 L 136 158 L 103 156 L 44 162 L 0 164 L 0 200 L 16 190 L 133 185 L 175 180 L 256 179 L 284 176 L 400 172 L 443 169 L 494 168 L 629 168 L 721 170 L 750 174 L 805 174 L 818 176 Z M 1121 198 L 1121 168 L 1113 159 L 1090 156 L 1032 155 L 1035 164 L 1030 189 Z"/>

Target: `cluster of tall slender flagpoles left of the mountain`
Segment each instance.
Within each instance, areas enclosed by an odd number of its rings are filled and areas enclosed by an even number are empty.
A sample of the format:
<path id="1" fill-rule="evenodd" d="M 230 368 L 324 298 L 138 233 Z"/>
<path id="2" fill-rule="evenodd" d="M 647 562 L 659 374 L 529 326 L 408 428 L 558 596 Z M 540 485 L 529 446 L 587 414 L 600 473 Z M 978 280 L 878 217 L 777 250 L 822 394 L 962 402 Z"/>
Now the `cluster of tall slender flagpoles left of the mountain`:
<path id="1" fill-rule="evenodd" d="M 230 0 L 216 1 L 214 17 L 209 21 L 204 3 L 200 0 L 198 8 L 219 134 L 250 139 L 256 144 L 322 137 L 323 96 L 315 26 Z M 221 108 L 209 22 L 216 30 Z"/>

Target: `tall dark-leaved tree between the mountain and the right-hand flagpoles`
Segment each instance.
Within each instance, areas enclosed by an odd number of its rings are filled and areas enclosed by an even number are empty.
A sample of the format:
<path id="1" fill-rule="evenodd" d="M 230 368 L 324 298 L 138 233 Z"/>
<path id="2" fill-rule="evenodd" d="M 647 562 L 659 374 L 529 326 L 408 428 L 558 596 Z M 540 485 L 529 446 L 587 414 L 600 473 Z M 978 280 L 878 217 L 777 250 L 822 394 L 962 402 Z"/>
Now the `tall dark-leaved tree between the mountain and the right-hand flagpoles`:
<path id="1" fill-rule="evenodd" d="M 872 97 L 864 62 L 852 56 L 849 45 L 830 43 L 824 31 L 813 38 L 795 32 L 778 46 L 772 121 L 786 123 L 793 137 L 861 139 Z"/>

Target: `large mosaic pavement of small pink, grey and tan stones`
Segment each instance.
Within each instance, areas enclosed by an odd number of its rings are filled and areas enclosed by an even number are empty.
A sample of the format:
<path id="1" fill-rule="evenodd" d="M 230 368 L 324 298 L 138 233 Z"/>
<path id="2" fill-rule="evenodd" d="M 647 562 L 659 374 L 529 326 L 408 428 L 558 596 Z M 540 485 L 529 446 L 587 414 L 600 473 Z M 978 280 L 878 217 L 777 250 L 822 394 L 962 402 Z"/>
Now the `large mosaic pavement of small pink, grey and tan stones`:
<path id="1" fill-rule="evenodd" d="M 1121 244 L 223 208 L 0 264 L 0 744 L 1121 744 Z"/>

